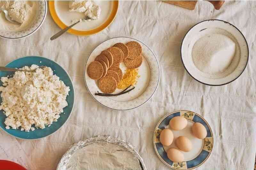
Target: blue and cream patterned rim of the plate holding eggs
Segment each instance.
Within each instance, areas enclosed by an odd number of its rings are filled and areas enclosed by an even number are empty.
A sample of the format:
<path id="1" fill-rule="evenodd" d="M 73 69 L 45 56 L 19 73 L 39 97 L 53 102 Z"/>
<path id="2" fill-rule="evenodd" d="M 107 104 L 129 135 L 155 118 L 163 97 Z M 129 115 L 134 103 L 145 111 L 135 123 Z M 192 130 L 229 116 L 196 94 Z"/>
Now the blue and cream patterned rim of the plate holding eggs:
<path id="1" fill-rule="evenodd" d="M 169 125 L 170 120 L 176 116 L 182 116 L 193 122 L 199 122 L 206 128 L 207 136 L 204 138 L 204 147 L 195 159 L 184 162 L 172 162 L 170 159 L 168 159 L 167 153 L 164 151 L 164 147 L 159 141 L 161 131 L 164 130 L 165 126 Z M 154 131 L 153 143 L 157 156 L 162 160 L 162 162 L 164 162 L 165 165 L 176 170 L 190 170 L 201 166 L 209 158 L 213 148 L 213 134 L 210 125 L 203 117 L 192 111 L 178 110 L 167 114 L 158 122 Z"/>

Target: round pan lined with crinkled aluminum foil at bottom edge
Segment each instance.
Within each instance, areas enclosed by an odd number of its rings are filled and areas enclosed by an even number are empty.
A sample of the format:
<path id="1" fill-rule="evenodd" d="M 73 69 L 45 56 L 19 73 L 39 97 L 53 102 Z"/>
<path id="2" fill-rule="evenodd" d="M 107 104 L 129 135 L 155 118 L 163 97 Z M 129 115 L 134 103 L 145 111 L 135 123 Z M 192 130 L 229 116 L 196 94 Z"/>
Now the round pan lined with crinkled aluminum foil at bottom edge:
<path id="1" fill-rule="evenodd" d="M 109 135 L 97 135 L 73 144 L 62 156 L 57 170 L 146 170 L 130 143 Z"/>

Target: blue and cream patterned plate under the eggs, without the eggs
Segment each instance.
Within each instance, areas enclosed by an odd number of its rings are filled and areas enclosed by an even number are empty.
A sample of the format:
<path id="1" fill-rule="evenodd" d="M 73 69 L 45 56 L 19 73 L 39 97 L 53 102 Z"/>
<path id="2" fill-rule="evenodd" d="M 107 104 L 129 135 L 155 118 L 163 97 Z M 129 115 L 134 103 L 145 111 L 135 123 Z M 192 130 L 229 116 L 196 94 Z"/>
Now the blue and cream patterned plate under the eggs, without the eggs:
<path id="1" fill-rule="evenodd" d="M 174 140 L 178 138 L 179 136 L 186 136 L 188 137 L 193 145 L 193 148 L 190 152 L 182 152 L 185 157 L 184 162 L 172 162 L 167 157 L 166 151 L 171 147 L 176 147 L 175 142 L 173 140 L 173 143 L 169 147 L 165 147 L 160 143 L 159 136 L 162 130 L 165 128 L 169 128 L 169 122 L 173 117 L 176 116 L 182 116 L 185 117 L 188 120 L 188 125 L 185 129 L 180 131 L 174 131 L 173 136 Z M 195 138 L 191 133 L 191 126 L 195 123 L 199 122 L 204 125 L 207 131 L 207 136 L 204 139 L 197 139 Z M 213 148 L 213 134 L 211 127 L 206 122 L 206 120 L 198 115 L 197 113 L 194 113 L 192 111 L 187 110 L 179 110 L 172 113 L 167 114 L 165 117 L 163 117 L 158 124 L 156 125 L 156 129 L 154 131 L 154 148 L 156 151 L 157 156 L 164 162 L 165 165 L 173 168 L 173 169 L 179 169 L 179 170 L 189 170 L 194 169 L 200 165 L 202 165 L 210 156 Z"/>

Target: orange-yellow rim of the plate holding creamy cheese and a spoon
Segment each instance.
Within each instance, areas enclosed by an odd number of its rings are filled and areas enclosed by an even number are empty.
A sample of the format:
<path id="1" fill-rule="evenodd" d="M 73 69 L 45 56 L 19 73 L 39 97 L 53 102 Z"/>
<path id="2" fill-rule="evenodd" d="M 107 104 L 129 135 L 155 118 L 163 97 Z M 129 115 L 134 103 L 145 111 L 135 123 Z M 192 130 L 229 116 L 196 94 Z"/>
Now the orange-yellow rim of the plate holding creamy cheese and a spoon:
<path id="1" fill-rule="evenodd" d="M 65 25 L 58 17 L 57 12 L 55 10 L 55 1 L 49 1 L 49 10 L 50 10 L 53 21 L 61 29 L 64 29 L 68 26 L 68 25 Z M 87 31 L 78 31 L 78 30 L 70 28 L 67 32 L 70 34 L 73 34 L 73 35 L 92 35 L 92 34 L 101 32 L 102 30 L 107 28 L 114 21 L 114 19 L 116 17 L 117 10 L 118 10 L 118 1 L 113 1 L 113 9 L 111 11 L 111 14 L 109 15 L 108 19 L 102 25 L 98 26 L 97 28 L 87 30 Z"/>

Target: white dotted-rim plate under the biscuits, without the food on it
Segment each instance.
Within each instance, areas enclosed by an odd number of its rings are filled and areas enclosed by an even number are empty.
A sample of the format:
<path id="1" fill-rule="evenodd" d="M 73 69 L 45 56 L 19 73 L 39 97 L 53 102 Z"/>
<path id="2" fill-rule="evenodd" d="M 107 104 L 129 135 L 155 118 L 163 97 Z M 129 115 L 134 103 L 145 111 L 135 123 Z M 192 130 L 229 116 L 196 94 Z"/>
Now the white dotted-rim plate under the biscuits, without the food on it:
<path id="1" fill-rule="evenodd" d="M 138 79 L 137 84 L 134 85 L 135 89 L 120 96 L 95 96 L 94 94 L 97 93 L 97 91 L 100 91 L 100 89 L 97 86 L 97 82 L 88 76 L 86 71 L 88 65 L 94 61 L 96 56 L 99 55 L 101 51 L 113 46 L 118 42 L 125 44 L 129 41 L 137 41 L 140 43 L 142 46 L 142 55 L 144 56 L 138 71 L 140 78 Z M 123 74 L 125 74 L 126 67 L 123 63 L 120 64 L 120 68 L 122 69 Z M 102 42 L 89 55 L 84 68 L 84 80 L 89 93 L 101 105 L 113 110 L 130 110 L 146 103 L 153 96 L 160 80 L 160 69 L 155 54 L 144 43 L 128 37 L 116 37 Z M 114 94 L 120 91 L 122 90 L 117 89 Z"/>

